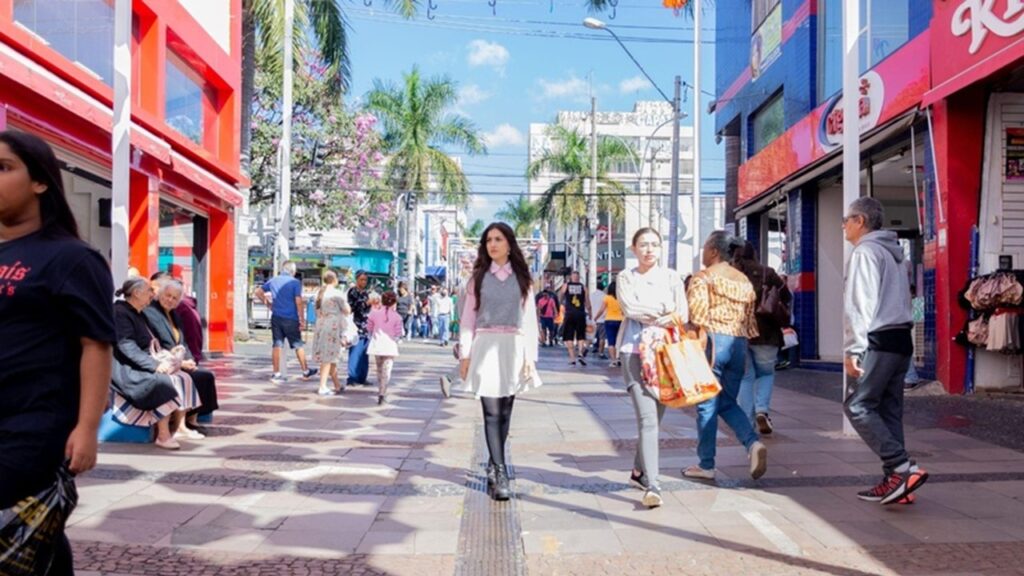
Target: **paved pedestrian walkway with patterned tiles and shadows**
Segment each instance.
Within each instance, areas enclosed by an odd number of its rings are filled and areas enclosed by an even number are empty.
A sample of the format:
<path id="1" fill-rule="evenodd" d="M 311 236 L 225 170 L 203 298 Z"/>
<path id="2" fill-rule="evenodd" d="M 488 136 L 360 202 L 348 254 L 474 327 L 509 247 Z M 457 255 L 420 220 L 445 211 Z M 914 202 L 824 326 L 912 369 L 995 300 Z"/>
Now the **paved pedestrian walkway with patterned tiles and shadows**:
<path id="1" fill-rule="evenodd" d="M 546 385 L 515 407 L 517 497 L 497 504 L 478 403 L 437 393 L 450 348 L 407 344 L 383 407 L 375 386 L 271 383 L 267 346 L 242 348 L 211 363 L 210 438 L 101 447 L 69 529 L 80 574 L 1024 574 L 1024 453 L 955 430 L 907 430 L 932 480 L 916 504 L 882 507 L 855 498 L 879 464 L 833 401 L 776 388 L 758 483 L 725 436 L 718 481 L 682 480 L 693 414 L 670 411 L 666 502 L 647 510 L 626 484 L 636 423 L 616 371 L 545 349 Z M 838 378 L 780 377 L 798 376 Z"/>

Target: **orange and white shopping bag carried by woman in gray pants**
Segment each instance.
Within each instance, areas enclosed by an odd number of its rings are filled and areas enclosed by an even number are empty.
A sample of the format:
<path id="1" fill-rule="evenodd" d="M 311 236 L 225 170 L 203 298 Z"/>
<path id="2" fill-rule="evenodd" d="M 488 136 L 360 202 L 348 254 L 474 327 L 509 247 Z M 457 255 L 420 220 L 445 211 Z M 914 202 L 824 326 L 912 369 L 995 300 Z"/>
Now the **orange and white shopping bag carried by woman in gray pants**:
<path id="1" fill-rule="evenodd" d="M 670 408 L 684 408 L 711 400 L 722 392 L 708 361 L 714 342 L 703 328 L 676 318 L 670 328 L 648 327 L 640 335 L 644 385 Z"/>

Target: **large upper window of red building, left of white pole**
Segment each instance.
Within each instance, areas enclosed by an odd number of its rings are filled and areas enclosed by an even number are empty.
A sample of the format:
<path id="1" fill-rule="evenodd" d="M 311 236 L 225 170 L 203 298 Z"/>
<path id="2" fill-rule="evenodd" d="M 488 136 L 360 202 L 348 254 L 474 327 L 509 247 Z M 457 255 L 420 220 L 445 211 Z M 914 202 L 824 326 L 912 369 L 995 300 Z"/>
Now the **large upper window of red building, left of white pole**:
<path id="1" fill-rule="evenodd" d="M 113 85 L 114 7 L 106 0 L 14 0 L 14 22 Z"/>

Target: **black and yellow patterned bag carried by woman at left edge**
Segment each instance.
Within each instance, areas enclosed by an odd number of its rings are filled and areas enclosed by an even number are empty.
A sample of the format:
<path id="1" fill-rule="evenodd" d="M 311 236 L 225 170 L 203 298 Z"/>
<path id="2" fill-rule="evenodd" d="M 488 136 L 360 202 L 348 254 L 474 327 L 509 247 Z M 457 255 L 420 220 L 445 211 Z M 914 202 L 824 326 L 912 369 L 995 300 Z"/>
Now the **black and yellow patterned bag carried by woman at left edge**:
<path id="1" fill-rule="evenodd" d="M 10 508 L 0 509 L 0 542 L 5 544 L 0 547 L 0 574 L 49 573 L 65 524 L 76 505 L 75 480 L 62 465 L 53 484 Z"/>

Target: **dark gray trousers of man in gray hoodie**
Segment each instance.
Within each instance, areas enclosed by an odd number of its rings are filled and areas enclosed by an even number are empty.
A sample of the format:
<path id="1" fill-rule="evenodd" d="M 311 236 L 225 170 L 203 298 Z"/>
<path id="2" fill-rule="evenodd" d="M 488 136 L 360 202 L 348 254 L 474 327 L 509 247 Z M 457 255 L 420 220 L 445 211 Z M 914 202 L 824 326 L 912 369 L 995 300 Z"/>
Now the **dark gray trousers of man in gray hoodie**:
<path id="1" fill-rule="evenodd" d="M 903 378 L 910 357 L 867 351 L 864 373 L 852 384 L 843 407 L 850 423 L 879 458 L 888 476 L 910 457 L 903 442 Z"/>

